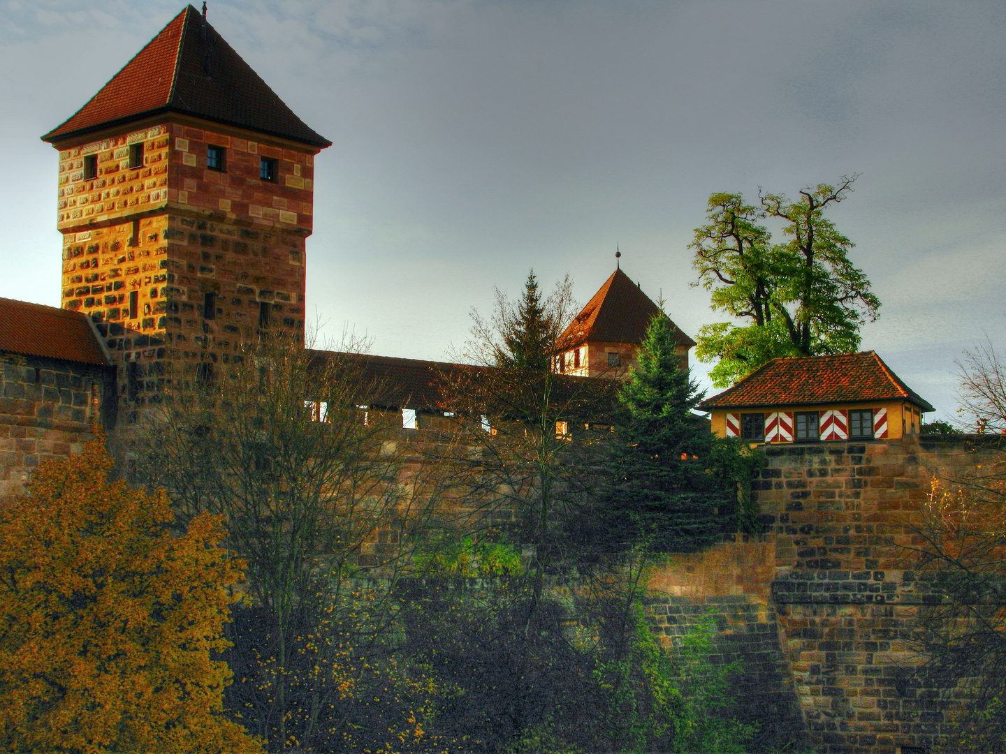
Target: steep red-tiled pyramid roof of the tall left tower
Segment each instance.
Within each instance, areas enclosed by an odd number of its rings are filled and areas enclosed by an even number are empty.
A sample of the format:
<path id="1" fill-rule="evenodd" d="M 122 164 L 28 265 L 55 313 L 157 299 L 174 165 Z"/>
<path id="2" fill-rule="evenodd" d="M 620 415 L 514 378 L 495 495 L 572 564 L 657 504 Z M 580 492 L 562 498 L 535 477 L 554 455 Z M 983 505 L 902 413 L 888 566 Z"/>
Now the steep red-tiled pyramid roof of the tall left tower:
<path id="1" fill-rule="evenodd" d="M 179 113 L 314 147 L 309 128 L 191 5 L 175 16 L 69 120 L 55 142 L 161 113 Z"/>

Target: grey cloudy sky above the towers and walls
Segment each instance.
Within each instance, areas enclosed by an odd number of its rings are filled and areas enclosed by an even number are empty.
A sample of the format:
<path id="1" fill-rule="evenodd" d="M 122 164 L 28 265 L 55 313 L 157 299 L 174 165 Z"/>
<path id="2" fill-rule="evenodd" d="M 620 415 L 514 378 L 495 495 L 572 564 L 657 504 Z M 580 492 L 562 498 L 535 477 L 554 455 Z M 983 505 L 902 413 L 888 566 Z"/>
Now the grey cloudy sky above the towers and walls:
<path id="1" fill-rule="evenodd" d="M 182 7 L 0 0 L 0 296 L 58 306 L 38 137 Z M 494 286 L 569 272 L 585 301 L 620 243 L 694 336 L 721 319 L 689 287 L 709 193 L 861 173 L 831 217 L 883 303 L 863 348 L 946 418 L 954 360 L 1006 341 L 1002 2 L 211 0 L 209 20 L 334 143 L 308 241 L 329 335 L 444 358 Z"/>

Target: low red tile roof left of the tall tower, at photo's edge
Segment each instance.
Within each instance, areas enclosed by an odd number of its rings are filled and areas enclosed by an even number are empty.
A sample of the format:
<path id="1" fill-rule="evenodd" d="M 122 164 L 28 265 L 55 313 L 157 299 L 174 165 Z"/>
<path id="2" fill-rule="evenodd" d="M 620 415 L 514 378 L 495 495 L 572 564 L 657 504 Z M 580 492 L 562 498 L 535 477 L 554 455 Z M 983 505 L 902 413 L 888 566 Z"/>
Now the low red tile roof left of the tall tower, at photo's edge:
<path id="1" fill-rule="evenodd" d="M 0 351 L 109 364 L 82 314 L 13 299 L 0 299 Z"/>

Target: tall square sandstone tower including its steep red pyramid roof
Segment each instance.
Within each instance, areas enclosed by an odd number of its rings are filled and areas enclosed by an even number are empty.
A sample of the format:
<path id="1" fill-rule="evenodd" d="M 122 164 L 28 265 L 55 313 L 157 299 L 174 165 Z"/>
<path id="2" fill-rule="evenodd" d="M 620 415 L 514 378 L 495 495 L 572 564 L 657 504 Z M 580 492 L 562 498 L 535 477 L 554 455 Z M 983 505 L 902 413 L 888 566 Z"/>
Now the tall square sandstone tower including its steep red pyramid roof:
<path id="1" fill-rule="evenodd" d="M 42 137 L 59 150 L 62 308 L 118 364 L 120 419 L 264 332 L 303 337 L 305 125 L 191 5 Z"/>

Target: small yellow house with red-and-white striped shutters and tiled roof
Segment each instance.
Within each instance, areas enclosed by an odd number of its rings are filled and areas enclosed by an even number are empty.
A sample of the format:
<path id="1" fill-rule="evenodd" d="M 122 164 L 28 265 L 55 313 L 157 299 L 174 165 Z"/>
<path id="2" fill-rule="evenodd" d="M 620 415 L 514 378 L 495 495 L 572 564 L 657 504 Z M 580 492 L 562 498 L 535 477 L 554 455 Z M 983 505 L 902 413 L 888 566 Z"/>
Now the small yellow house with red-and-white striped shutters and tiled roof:
<path id="1" fill-rule="evenodd" d="M 773 359 L 698 407 L 751 443 L 896 439 L 936 410 L 873 351 Z"/>

